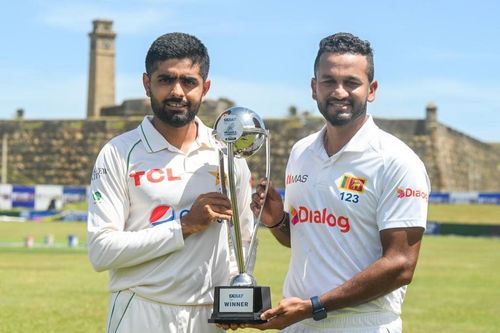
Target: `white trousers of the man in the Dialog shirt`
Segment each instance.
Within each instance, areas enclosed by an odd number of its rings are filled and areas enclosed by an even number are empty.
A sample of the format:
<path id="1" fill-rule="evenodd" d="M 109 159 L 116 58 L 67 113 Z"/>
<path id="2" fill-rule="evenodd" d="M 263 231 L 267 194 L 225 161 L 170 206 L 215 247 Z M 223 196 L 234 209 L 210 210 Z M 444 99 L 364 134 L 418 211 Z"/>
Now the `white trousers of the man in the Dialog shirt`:
<path id="1" fill-rule="evenodd" d="M 283 333 L 401 333 L 401 318 L 392 313 L 328 316 L 324 320 L 306 319 L 293 324 Z"/>

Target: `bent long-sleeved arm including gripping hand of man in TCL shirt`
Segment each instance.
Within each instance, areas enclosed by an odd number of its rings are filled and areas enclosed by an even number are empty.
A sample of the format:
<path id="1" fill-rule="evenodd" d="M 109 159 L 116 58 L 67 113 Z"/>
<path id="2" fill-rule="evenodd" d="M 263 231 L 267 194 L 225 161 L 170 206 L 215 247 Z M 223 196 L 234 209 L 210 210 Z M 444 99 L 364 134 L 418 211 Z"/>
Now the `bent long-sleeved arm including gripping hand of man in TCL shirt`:
<path id="1" fill-rule="evenodd" d="M 108 144 L 96 168 L 105 175 L 92 180 L 87 240 L 90 262 L 97 271 L 139 265 L 184 246 L 184 239 L 205 230 L 214 220 L 231 218 L 231 205 L 220 193 L 205 193 L 181 219 L 137 231 L 126 231 L 130 198 L 123 154 Z"/>

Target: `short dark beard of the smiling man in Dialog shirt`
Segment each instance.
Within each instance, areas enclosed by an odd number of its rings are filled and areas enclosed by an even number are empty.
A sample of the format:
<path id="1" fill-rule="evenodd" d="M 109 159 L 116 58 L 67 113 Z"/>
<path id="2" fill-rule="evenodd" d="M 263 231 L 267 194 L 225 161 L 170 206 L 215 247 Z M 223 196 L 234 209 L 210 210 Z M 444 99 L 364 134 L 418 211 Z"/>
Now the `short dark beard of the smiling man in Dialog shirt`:
<path id="1" fill-rule="evenodd" d="M 329 112 L 329 108 L 334 108 L 334 106 L 329 105 L 330 103 L 340 103 L 349 106 L 351 111 L 337 111 L 333 110 Z M 352 123 L 354 120 L 366 114 L 366 100 L 361 103 L 354 103 L 352 100 L 337 100 L 335 98 L 327 99 L 325 102 L 317 101 L 319 112 L 332 126 L 345 126 Z"/>

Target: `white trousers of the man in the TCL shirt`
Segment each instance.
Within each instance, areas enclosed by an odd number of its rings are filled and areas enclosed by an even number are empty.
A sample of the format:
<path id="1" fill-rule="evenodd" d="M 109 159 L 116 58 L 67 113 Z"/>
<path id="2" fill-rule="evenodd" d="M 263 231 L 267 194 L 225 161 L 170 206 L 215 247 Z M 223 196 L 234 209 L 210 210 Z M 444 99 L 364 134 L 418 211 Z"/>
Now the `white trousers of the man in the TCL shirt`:
<path id="1" fill-rule="evenodd" d="M 156 303 L 128 290 L 111 294 L 107 333 L 221 333 L 208 323 L 212 305 Z"/>

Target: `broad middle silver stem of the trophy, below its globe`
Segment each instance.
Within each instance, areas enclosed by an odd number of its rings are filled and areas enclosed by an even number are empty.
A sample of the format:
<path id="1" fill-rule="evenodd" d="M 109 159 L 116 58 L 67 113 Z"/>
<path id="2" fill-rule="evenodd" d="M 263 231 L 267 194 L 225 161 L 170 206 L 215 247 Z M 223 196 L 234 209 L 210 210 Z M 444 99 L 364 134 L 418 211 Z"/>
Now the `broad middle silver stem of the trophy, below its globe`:
<path id="1" fill-rule="evenodd" d="M 231 198 L 231 209 L 233 211 L 233 228 L 234 235 L 234 254 L 236 256 L 236 263 L 238 264 L 238 272 L 240 274 L 245 273 L 245 262 L 243 259 L 243 248 L 241 244 L 241 229 L 240 229 L 240 216 L 238 212 L 238 199 L 236 195 L 236 184 L 234 175 L 234 144 L 229 142 L 227 144 L 227 168 L 229 176 L 229 195 Z"/>

